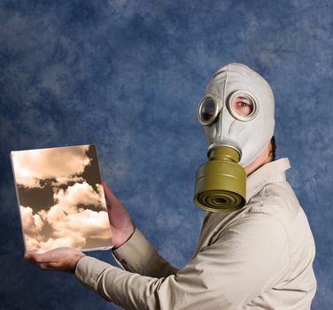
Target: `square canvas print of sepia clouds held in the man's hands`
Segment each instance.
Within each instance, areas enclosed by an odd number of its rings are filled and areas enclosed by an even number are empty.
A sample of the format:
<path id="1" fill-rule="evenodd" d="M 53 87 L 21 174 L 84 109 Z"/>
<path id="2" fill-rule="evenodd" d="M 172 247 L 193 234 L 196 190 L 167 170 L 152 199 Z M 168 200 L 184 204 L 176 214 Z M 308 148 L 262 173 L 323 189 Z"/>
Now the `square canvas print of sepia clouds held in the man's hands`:
<path id="1" fill-rule="evenodd" d="M 12 151 L 26 252 L 112 247 L 96 146 Z"/>

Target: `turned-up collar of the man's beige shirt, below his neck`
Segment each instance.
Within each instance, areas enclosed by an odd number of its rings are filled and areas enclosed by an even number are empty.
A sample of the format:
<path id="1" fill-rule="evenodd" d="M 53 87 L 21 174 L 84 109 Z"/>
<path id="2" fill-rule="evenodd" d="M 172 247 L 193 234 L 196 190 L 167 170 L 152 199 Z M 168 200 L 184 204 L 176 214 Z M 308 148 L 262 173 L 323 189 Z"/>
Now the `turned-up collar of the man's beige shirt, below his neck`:
<path id="1" fill-rule="evenodd" d="M 259 167 L 246 178 L 246 202 L 268 182 L 286 181 L 285 170 L 290 168 L 289 159 L 277 159 Z"/>

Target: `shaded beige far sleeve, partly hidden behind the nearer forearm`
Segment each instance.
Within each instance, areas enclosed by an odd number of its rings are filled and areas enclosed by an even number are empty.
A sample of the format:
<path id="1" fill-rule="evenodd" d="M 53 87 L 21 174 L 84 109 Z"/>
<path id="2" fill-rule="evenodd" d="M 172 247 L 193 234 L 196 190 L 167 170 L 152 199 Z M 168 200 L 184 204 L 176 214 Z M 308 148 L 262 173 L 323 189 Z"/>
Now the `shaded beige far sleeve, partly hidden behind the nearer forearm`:
<path id="1" fill-rule="evenodd" d="M 139 229 L 125 244 L 112 251 L 115 260 L 125 270 L 140 275 L 167 277 L 175 275 L 178 268 L 171 266 L 143 236 Z"/>

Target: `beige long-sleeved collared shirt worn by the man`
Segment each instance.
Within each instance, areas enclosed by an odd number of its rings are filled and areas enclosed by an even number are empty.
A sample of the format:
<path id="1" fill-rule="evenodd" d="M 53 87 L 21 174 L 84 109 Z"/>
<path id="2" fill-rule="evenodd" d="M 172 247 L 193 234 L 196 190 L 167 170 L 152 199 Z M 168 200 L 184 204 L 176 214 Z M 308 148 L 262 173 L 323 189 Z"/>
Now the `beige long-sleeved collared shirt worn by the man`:
<path id="1" fill-rule="evenodd" d="M 310 309 L 316 291 L 314 237 L 275 160 L 247 178 L 247 205 L 206 213 L 197 250 L 181 270 L 136 229 L 113 252 L 125 269 L 83 257 L 75 275 L 127 309 Z"/>

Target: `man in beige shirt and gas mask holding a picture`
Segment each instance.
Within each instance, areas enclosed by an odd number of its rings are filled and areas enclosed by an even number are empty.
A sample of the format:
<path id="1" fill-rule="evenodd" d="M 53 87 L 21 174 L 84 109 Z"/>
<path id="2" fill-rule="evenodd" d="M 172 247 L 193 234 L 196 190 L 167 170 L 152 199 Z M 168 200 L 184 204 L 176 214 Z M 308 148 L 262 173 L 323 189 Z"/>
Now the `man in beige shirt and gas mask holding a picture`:
<path id="1" fill-rule="evenodd" d="M 159 256 L 106 184 L 113 255 L 125 270 L 69 248 L 25 258 L 73 272 L 127 309 L 310 309 L 314 238 L 286 182 L 288 159 L 273 160 L 274 97 L 267 81 L 244 65 L 222 67 L 199 105 L 199 121 L 210 161 L 198 169 L 195 201 L 209 211 L 186 267 Z M 238 161 L 246 194 L 238 186 Z M 221 188 L 212 190 L 212 180 Z"/>

